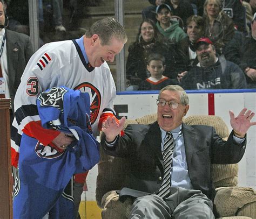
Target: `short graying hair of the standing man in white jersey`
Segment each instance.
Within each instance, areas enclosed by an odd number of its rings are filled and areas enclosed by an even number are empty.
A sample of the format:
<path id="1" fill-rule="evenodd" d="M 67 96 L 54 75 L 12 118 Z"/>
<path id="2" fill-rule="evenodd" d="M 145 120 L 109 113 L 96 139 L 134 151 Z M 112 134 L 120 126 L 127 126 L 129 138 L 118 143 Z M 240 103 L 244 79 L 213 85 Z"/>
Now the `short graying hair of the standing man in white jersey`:
<path id="1" fill-rule="evenodd" d="M 112 17 L 107 17 L 93 23 L 85 32 L 85 37 L 90 38 L 93 34 L 99 36 L 103 46 L 109 45 L 109 42 L 113 37 L 123 43 L 126 43 L 127 41 L 124 27 Z"/>

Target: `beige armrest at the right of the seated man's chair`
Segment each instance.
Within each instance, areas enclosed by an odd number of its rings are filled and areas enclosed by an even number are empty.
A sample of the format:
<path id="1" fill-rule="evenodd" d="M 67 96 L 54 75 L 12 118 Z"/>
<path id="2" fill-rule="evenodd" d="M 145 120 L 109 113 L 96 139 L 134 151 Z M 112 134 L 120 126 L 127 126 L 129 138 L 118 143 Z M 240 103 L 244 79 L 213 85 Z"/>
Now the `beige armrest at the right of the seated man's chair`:
<path id="1" fill-rule="evenodd" d="M 254 189 L 248 187 L 220 187 L 216 189 L 216 192 L 214 204 L 217 213 L 221 217 L 235 216 L 242 210 L 246 211 L 247 215 L 240 215 L 255 218 L 255 208 L 247 209 L 247 204 L 256 204 L 256 191 Z"/>

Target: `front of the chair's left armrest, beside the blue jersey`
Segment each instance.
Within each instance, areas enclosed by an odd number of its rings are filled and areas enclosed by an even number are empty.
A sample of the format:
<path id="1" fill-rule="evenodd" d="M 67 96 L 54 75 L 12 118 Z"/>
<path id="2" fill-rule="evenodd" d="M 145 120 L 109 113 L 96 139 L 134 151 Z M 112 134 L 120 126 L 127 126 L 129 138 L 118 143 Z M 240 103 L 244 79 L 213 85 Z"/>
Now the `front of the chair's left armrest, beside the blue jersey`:
<path id="1" fill-rule="evenodd" d="M 102 197 L 102 219 L 126 219 L 130 214 L 132 203 L 130 197 L 122 203 L 116 191 L 107 192 Z"/>

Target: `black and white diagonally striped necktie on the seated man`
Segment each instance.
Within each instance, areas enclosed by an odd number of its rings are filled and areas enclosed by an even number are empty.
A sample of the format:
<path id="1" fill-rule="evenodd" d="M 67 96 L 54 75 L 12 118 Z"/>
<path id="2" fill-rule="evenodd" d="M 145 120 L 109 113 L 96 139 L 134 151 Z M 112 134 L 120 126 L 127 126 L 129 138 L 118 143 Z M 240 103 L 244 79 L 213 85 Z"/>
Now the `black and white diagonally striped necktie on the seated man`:
<path id="1" fill-rule="evenodd" d="M 163 199 L 164 197 L 170 195 L 173 147 L 174 145 L 172 134 L 170 132 L 166 132 L 164 150 L 162 151 L 164 162 L 164 179 L 158 191 L 158 195 Z"/>

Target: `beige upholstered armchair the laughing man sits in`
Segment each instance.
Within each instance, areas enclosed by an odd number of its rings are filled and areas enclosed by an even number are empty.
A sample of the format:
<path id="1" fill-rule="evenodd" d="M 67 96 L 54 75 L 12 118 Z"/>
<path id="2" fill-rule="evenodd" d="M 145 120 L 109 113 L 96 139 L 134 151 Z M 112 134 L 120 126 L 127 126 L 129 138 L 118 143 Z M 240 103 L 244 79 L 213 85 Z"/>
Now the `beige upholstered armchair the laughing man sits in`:
<path id="1" fill-rule="evenodd" d="M 157 114 L 147 115 L 135 120 L 127 119 L 126 125 L 151 124 L 157 119 Z M 188 125 L 204 124 L 213 126 L 222 138 L 227 138 L 229 131 L 223 119 L 218 116 L 188 116 L 184 118 Z M 118 190 L 124 186 L 125 173 L 129 171 L 129 160 L 115 158 L 100 151 L 96 187 L 96 201 L 102 208 L 102 218 L 122 219 L 129 215 L 132 200 L 124 203 L 119 201 Z M 220 218 L 256 219 L 256 191 L 252 188 L 238 187 L 238 164 L 212 165 L 212 179 L 217 194 L 214 204 Z"/>

